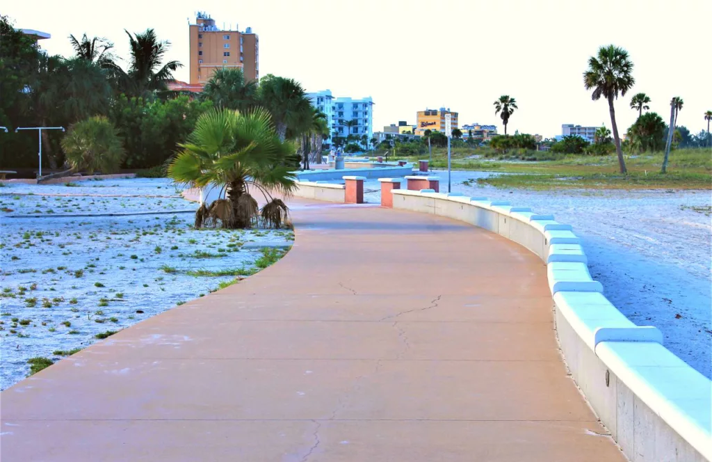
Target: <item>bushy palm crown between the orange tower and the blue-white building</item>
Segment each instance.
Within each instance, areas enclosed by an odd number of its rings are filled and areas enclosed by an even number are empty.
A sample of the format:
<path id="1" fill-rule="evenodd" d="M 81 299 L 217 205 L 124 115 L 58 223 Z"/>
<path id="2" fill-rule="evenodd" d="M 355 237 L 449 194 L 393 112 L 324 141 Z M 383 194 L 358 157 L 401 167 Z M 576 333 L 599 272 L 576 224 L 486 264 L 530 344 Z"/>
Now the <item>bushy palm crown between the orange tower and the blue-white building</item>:
<path id="1" fill-rule="evenodd" d="M 311 103 L 299 82 L 271 74 L 260 80 L 258 101 L 271 113 L 277 135 L 282 141 L 299 135 L 297 128 L 300 120 L 303 120 L 311 108 Z M 288 128 L 293 130 L 287 133 Z"/>

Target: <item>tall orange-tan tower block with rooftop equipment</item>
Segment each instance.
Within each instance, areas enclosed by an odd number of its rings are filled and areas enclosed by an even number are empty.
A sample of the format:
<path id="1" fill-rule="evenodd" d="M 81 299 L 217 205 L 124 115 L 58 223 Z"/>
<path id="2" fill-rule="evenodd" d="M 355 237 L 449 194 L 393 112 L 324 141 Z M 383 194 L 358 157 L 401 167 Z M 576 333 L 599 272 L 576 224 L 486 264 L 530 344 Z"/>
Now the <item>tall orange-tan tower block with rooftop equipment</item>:
<path id="1" fill-rule="evenodd" d="M 246 80 L 258 80 L 259 39 L 252 28 L 241 32 L 219 29 L 209 14 L 198 13 L 196 24 L 189 24 L 190 81 L 204 85 L 219 68 L 241 68 Z"/>

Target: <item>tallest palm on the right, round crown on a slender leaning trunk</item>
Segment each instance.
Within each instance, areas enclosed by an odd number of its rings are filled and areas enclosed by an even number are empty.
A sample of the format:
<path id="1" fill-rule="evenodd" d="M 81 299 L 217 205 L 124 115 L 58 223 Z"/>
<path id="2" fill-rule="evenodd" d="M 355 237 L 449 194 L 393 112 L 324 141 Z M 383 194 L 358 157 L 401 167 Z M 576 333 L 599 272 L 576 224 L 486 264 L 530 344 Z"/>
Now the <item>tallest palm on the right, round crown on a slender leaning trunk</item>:
<path id="1" fill-rule="evenodd" d="M 597 101 L 603 96 L 608 101 L 608 111 L 611 114 L 611 125 L 613 128 L 613 138 L 616 143 L 616 153 L 618 155 L 618 165 L 621 173 L 627 173 L 623 151 L 621 150 L 621 139 L 618 136 L 618 125 L 616 124 L 616 112 L 613 107 L 613 99 L 618 98 L 618 94 L 625 96 L 635 83 L 631 75 L 633 63 L 628 58 L 628 52 L 623 48 L 614 45 L 602 46 L 598 50 L 597 56 L 591 56 L 588 60 L 588 70 L 583 73 L 584 86 L 587 90 L 593 90 L 592 99 Z"/>

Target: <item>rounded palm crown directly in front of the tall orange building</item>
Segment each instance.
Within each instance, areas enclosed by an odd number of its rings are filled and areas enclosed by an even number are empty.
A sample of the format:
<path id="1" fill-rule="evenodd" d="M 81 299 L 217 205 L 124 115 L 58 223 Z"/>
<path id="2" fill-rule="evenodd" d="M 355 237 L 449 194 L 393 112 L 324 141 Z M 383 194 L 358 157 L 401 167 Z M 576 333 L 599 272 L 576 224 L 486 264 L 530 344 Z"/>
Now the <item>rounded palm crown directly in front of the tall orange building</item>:
<path id="1" fill-rule="evenodd" d="M 245 81 L 241 68 L 219 68 L 214 71 L 201 94 L 219 108 L 244 112 L 256 104 L 257 82 Z"/>

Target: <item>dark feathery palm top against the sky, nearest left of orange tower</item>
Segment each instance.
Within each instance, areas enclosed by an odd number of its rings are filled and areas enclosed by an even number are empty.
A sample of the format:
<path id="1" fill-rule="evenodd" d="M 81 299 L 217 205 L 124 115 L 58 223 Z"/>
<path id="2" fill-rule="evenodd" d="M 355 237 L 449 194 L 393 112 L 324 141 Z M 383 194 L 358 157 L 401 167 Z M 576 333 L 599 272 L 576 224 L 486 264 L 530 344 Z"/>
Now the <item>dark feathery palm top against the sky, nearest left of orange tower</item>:
<path id="1" fill-rule="evenodd" d="M 170 46 L 169 41 L 159 41 L 153 29 L 131 34 L 129 37 L 131 59 L 128 71 L 112 66 L 120 90 L 127 96 L 148 96 L 154 91 L 164 91 L 173 80 L 173 73 L 183 65 L 169 61 L 161 66 Z"/>

